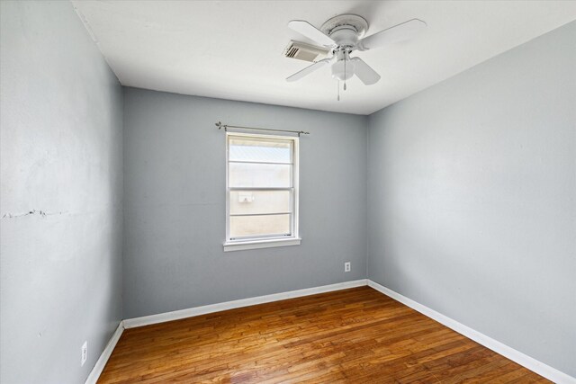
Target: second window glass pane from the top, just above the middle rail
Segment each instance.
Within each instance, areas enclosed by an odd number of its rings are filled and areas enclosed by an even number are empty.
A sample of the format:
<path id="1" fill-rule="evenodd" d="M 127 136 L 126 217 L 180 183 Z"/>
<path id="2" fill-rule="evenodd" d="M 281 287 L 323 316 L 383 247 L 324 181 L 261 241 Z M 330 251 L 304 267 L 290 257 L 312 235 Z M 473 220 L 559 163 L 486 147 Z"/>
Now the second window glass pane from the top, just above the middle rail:
<path id="1" fill-rule="evenodd" d="M 292 165 L 229 164 L 230 187 L 290 188 Z"/>

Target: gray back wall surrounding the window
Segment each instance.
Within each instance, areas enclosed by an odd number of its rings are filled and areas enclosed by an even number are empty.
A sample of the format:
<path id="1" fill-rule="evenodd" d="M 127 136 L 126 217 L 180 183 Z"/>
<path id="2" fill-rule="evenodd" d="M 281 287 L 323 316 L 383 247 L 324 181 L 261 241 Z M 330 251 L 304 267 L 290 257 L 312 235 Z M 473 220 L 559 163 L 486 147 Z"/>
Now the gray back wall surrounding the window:
<path id="1" fill-rule="evenodd" d="M 124 107 L 125 318 L 365 278 L 365 116 L 134 88 Z M 301 246 L 223 252 L 216 121 L 311 132 L 300 140 Z"/>

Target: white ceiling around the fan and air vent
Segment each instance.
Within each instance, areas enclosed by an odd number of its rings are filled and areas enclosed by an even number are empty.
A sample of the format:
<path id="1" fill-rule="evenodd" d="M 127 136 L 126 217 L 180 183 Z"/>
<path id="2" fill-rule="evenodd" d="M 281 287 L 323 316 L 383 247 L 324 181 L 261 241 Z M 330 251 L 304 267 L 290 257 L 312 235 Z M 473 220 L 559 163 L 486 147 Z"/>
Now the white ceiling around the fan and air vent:
<path id="1" fill-rule="evenodd" d="M 576 1 L 80 1 L 76 11 L 122 85 L 332 112 L 369 114 L 464 69 L 576 20 Z M 356 77 L 337 101 L 324 67 L 296 83 L 310 63 L 284 58 L 287 28 L 317 28 L 339 13 L 365 17 L 366 35 L 419 18 L 415 40 L 355 52 L 380 73 Z M 311 42 L 311 41 L 309 41 Z"/>

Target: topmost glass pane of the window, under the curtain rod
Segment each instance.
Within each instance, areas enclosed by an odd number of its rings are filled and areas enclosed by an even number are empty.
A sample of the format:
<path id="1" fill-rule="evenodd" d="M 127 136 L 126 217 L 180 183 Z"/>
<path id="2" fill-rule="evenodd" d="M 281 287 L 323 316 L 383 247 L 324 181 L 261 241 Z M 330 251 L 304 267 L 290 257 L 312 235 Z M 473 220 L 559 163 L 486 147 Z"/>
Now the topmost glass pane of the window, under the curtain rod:
<path id="1" fill-rule="evenodd" d="M 229 161 L 292 163 L 292 140 L 229 137 Z"/>

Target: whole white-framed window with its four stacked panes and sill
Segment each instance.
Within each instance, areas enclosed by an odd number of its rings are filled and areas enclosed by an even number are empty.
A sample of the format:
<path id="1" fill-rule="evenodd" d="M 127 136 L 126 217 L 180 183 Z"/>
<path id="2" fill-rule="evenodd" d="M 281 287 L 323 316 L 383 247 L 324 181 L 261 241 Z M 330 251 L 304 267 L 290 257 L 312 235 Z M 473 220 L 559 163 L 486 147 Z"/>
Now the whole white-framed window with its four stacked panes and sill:
<path id="1" fill-rule="evenodd" d="M 298 138 L 226 133 L 224 250 L 295 246 Z"/>

